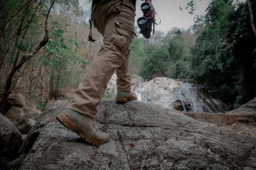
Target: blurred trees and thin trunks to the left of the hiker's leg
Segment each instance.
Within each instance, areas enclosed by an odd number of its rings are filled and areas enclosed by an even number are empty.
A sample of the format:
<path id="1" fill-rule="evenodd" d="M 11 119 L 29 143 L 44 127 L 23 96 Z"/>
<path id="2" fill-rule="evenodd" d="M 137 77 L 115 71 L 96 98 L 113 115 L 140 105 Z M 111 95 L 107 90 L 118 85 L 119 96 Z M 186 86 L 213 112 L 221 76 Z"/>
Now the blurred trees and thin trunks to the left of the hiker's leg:
<path id="1" fill-rule="evenodd" d="M 75 88 L 85 73 L 86 60 L 92 60 L 101 44 L 100 38 L 93 45 L 87 41 L 89 11 L 76 0 L 1 1 L 0 8 L 1 101 L 4 94 L 15 91 L 44 108 L 48 99 L 60 99 Z M 35 50 L 44 39 L 46 18 L 47 44 Z M 99 37 L 97 31 L 93 33 Z M 13 68 L 30 53 L 31 58 L 11 76 L 10 87 L 6 86 Z"/>

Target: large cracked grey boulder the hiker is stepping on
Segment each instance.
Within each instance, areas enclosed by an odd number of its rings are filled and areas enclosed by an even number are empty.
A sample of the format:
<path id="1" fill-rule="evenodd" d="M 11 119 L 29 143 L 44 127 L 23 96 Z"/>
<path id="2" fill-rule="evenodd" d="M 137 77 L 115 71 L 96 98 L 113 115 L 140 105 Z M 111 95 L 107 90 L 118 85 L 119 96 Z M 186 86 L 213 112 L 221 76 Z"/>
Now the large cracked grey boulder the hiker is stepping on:
<path id="1" fill-rule="evenodd" d="M 108 132 L 93 146 L 56 120 L 66 103 L 47 108 L 20 149 L 17 169 L 243 169 L 256 168 L 256 139 L 180 111 L 139 101 L 98 106 L 97 127 Z"/>

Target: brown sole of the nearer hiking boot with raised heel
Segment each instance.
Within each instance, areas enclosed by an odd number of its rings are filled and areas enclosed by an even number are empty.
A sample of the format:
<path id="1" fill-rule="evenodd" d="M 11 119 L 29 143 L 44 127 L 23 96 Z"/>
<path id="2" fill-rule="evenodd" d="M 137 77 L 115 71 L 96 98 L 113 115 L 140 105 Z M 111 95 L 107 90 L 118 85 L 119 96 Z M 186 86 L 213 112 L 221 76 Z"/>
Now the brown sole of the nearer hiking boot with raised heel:
<path id="1" fill-rule="evenodd" d="M 76 122 L 74 122 L 74 120 L 65 112 L 61 112 L 56 119 L 65 127 L 67 127 L 67 129 L 70 129 L 70 131 L 72 132 L 76 132 L 81 138 L 83 138 L 86 142 L 88 143 L 92 143 L 92 145 L 102 145 L 104 143 L 108 143 L 109 138 L 102 141 L 102 142 L 96 142 L 94 141 L 92 138 L 90 138 L 90 136 L 83 131 L 77 124 Z"/>

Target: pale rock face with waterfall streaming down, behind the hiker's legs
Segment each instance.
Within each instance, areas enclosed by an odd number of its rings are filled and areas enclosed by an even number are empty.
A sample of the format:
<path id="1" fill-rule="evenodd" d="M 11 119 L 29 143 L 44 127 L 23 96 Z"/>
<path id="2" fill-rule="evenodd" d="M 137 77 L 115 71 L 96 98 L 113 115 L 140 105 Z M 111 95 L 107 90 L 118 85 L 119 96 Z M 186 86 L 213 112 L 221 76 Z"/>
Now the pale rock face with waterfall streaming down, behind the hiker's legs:
<path id="1" fill-rule="evenodd" d="M 214 99 L 204 88 L 191 83 L 182 83 L 171 78 L 157 77 L 143 81 L 140 76 L 132 76 L 132 92 L 138 101 L 155 104 L 164 108 L 174 108 L 180 111 L 222 112 L 228 110 L 227 104 L 220 99 Z M 108 83 L 104 97 L 115 99 L 116 74 Z"/>

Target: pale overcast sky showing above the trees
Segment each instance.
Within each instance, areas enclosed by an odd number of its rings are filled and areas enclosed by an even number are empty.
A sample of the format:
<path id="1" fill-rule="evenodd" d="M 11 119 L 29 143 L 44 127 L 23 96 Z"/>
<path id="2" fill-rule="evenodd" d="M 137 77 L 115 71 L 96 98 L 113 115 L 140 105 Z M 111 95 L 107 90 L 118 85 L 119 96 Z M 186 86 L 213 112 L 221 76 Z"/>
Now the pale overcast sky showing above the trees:
<path id="1" fill-rule="evenodd" d="M 188 29 L 194 24 L 193 19 L 196 15 L 205 15 L 205 10 L 211 0 L 196 0 L 196 9 L 193 15 L 189 14 L 189 10 L 185 9 L 186 4 L 189 1 L 190 0 L 152 0 L 152 4 L 158 13 L 158 15 L 156 15 L 156 22 L 159 22 L 161 19 L 161 24 L 156 25 L 156 30 L 168 32 L 173 27 Z M 88 7 L 88 3 L 86 2 L 88 2 L 88 0 L 79 0 L 79 3 L 83 6 L 84 10 L 90 10 L 90 7 Z M 140 10 L 141 3 L 143 3 L 143 1 L 137 0 L 136 20 L 143 15 Z M 179 6 L 183 8 L 183 10 L 180 10 Z"/>

